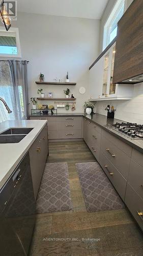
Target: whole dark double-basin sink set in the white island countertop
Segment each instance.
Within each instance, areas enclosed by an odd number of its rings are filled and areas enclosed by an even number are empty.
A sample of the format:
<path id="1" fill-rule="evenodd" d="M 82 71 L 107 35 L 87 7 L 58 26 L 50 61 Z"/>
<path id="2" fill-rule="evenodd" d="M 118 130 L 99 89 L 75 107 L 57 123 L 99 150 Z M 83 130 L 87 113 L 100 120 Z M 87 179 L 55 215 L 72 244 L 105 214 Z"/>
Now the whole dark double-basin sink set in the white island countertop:
<path id="1" fill-rule="evenodd" d="M 18 143 L 32 130 L 33 128 L 10 128 L 0 133 L 0 144 Z"/>

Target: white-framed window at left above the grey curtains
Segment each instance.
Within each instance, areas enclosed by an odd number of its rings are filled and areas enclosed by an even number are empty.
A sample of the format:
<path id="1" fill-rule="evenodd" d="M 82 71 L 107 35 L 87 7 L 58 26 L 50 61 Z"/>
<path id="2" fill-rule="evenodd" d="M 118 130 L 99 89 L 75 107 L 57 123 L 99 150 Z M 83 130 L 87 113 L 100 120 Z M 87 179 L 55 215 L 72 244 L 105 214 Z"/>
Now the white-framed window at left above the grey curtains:
<path id="1" fill-rule="evenodd" d="M 0 27 L 0 57 L 21 58 L 18 28 L 6 31 Z"/>

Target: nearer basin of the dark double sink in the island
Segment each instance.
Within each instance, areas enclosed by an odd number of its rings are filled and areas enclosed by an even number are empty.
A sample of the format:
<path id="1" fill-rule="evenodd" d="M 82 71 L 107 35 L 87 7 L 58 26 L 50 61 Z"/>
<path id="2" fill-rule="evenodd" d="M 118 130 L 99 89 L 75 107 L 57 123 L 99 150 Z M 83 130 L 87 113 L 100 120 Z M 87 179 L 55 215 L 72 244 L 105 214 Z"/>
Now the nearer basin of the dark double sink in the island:
<path id="1" fill-rule="evenodd" d="M 0 143 L 18 143 L 25 135 L 0 135 Z"/>

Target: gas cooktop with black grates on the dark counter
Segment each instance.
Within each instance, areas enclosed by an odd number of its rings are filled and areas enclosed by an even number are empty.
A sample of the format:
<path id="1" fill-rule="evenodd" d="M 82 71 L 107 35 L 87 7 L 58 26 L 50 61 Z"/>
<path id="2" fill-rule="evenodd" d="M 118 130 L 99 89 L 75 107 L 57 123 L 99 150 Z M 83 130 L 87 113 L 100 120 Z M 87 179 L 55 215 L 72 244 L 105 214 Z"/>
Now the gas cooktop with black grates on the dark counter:
<path id="1" fill-rule="evenodd" d="M 115 123 L 112 124 L 115 131 L 119 131 L 120 133 L 126 134 L 128 137 L 133 139 L 143 139 L 143 124 L 137 123 Z"/>

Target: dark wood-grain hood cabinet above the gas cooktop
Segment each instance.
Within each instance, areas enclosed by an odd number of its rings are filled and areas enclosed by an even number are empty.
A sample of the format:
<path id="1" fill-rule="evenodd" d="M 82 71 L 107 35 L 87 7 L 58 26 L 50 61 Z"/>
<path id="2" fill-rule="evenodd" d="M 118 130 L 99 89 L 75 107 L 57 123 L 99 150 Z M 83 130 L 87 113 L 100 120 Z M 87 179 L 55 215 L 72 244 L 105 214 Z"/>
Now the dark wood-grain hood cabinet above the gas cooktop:
<path id="1" fill-rule="evenodd" d="M 143 1 L 134 0 L 118 23 L 113 83 L 141 82 L 142 74 Z"/>

